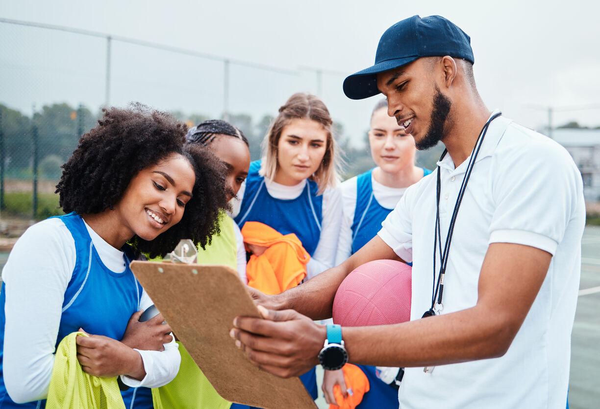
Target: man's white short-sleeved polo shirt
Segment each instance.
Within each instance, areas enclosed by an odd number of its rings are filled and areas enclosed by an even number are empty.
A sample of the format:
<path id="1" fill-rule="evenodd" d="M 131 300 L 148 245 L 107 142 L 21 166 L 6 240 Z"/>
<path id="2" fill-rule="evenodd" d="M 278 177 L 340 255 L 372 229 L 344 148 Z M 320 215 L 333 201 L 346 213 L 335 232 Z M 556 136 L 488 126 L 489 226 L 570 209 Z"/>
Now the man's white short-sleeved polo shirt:
<path id="1" fill-rule="evenodd" d="M 442 243 L 468 162 L 454 168 L 448 154 L 438 162 Z M 412 320 L 431 306 L 436 180 L 434 171 L 409 187 L 379 232 L 414 264 Z M 442 313 L 476 304 L 490 243 L 545 250 L 550 268 L 506 355 L 436 366 L 431 374 L 407 368 L 401 408 L 565 408 L 584 223 L 583 183 L 569 153 L 502 116 L 491 122 L 458 211 Z"/>

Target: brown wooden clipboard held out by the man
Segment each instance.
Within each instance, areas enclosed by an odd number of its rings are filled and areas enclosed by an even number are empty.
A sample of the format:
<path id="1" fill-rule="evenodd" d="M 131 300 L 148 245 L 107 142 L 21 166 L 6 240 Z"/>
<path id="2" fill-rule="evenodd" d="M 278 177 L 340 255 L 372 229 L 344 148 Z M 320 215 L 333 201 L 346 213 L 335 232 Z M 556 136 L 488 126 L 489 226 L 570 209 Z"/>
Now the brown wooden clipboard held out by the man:
<path id="1" fill-rule="evenodd" d="M 236 316 L 260 317 L 235 269 L 134 261 L 131 270 L 224 399 L 265 409 L 317 407 L 298 377 L 261 371 L 229 336 Z"/>

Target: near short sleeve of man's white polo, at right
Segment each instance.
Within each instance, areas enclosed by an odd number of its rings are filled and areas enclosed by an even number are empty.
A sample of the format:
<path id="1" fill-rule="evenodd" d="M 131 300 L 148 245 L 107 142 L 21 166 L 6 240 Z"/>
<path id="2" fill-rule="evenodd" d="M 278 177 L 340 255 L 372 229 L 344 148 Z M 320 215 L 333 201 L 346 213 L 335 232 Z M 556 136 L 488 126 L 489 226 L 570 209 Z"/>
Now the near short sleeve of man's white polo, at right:
<path id="1" fill-rule="evenodd" d="M 559 144 L 519 129 L 514 133 L 523 138 L 521 149 L 491 164 L 497 169 L 490 172 L 495 210 L 489 243 L 523 244 L 554 255 L 577 210 L 581 175 Z"/>

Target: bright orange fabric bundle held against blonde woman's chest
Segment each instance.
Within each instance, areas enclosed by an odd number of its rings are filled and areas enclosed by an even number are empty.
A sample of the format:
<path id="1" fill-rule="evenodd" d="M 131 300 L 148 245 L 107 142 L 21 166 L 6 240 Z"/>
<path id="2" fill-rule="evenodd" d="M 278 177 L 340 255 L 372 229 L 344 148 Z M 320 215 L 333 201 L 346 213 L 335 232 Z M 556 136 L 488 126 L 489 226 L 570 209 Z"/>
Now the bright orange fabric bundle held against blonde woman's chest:
<path id="1" fill-rule="evenodd" d="M 262 255 L 250 256 L 246 265 L 249 286 L 265 294 L 279 294 L 306 277 L 310 255 L 295 234 L 283 235 L 263 223 L 246 222 L 242 236 L 244 243 L 268 247 Z"/>

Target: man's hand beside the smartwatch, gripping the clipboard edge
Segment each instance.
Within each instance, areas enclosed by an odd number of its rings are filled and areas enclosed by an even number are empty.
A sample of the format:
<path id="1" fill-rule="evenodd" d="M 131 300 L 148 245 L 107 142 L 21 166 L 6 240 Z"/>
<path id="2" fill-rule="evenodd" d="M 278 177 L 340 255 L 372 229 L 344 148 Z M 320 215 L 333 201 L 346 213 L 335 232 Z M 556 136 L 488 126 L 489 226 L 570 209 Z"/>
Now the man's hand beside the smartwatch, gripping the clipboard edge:
<path id="1" fill-rule="evenodd" d="M 319 363 L 325 326 L 294 310 L 258 308 L 265 319 L 236 317 L 230 332 L 251 363 L 283 378 L 302 375 Z"/>

